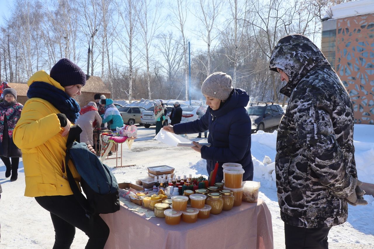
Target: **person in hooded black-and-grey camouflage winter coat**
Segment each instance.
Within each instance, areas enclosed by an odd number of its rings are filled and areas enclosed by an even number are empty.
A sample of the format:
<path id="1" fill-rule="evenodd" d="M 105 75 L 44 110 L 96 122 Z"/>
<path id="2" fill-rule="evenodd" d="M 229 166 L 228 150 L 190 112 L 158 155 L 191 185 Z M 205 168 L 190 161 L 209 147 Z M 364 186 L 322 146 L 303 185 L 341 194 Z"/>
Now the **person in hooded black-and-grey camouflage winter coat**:
<path id="1" fill-rule="evenodd" d="M 353 107 L 346 88 L 318 47 L 303 35 L 278 41 L 270 70 L 289 97 L 278 128 L 275 170 L 286 248 L 328 248 L 347 203 L 366 205 L 357 179 Z"/>

